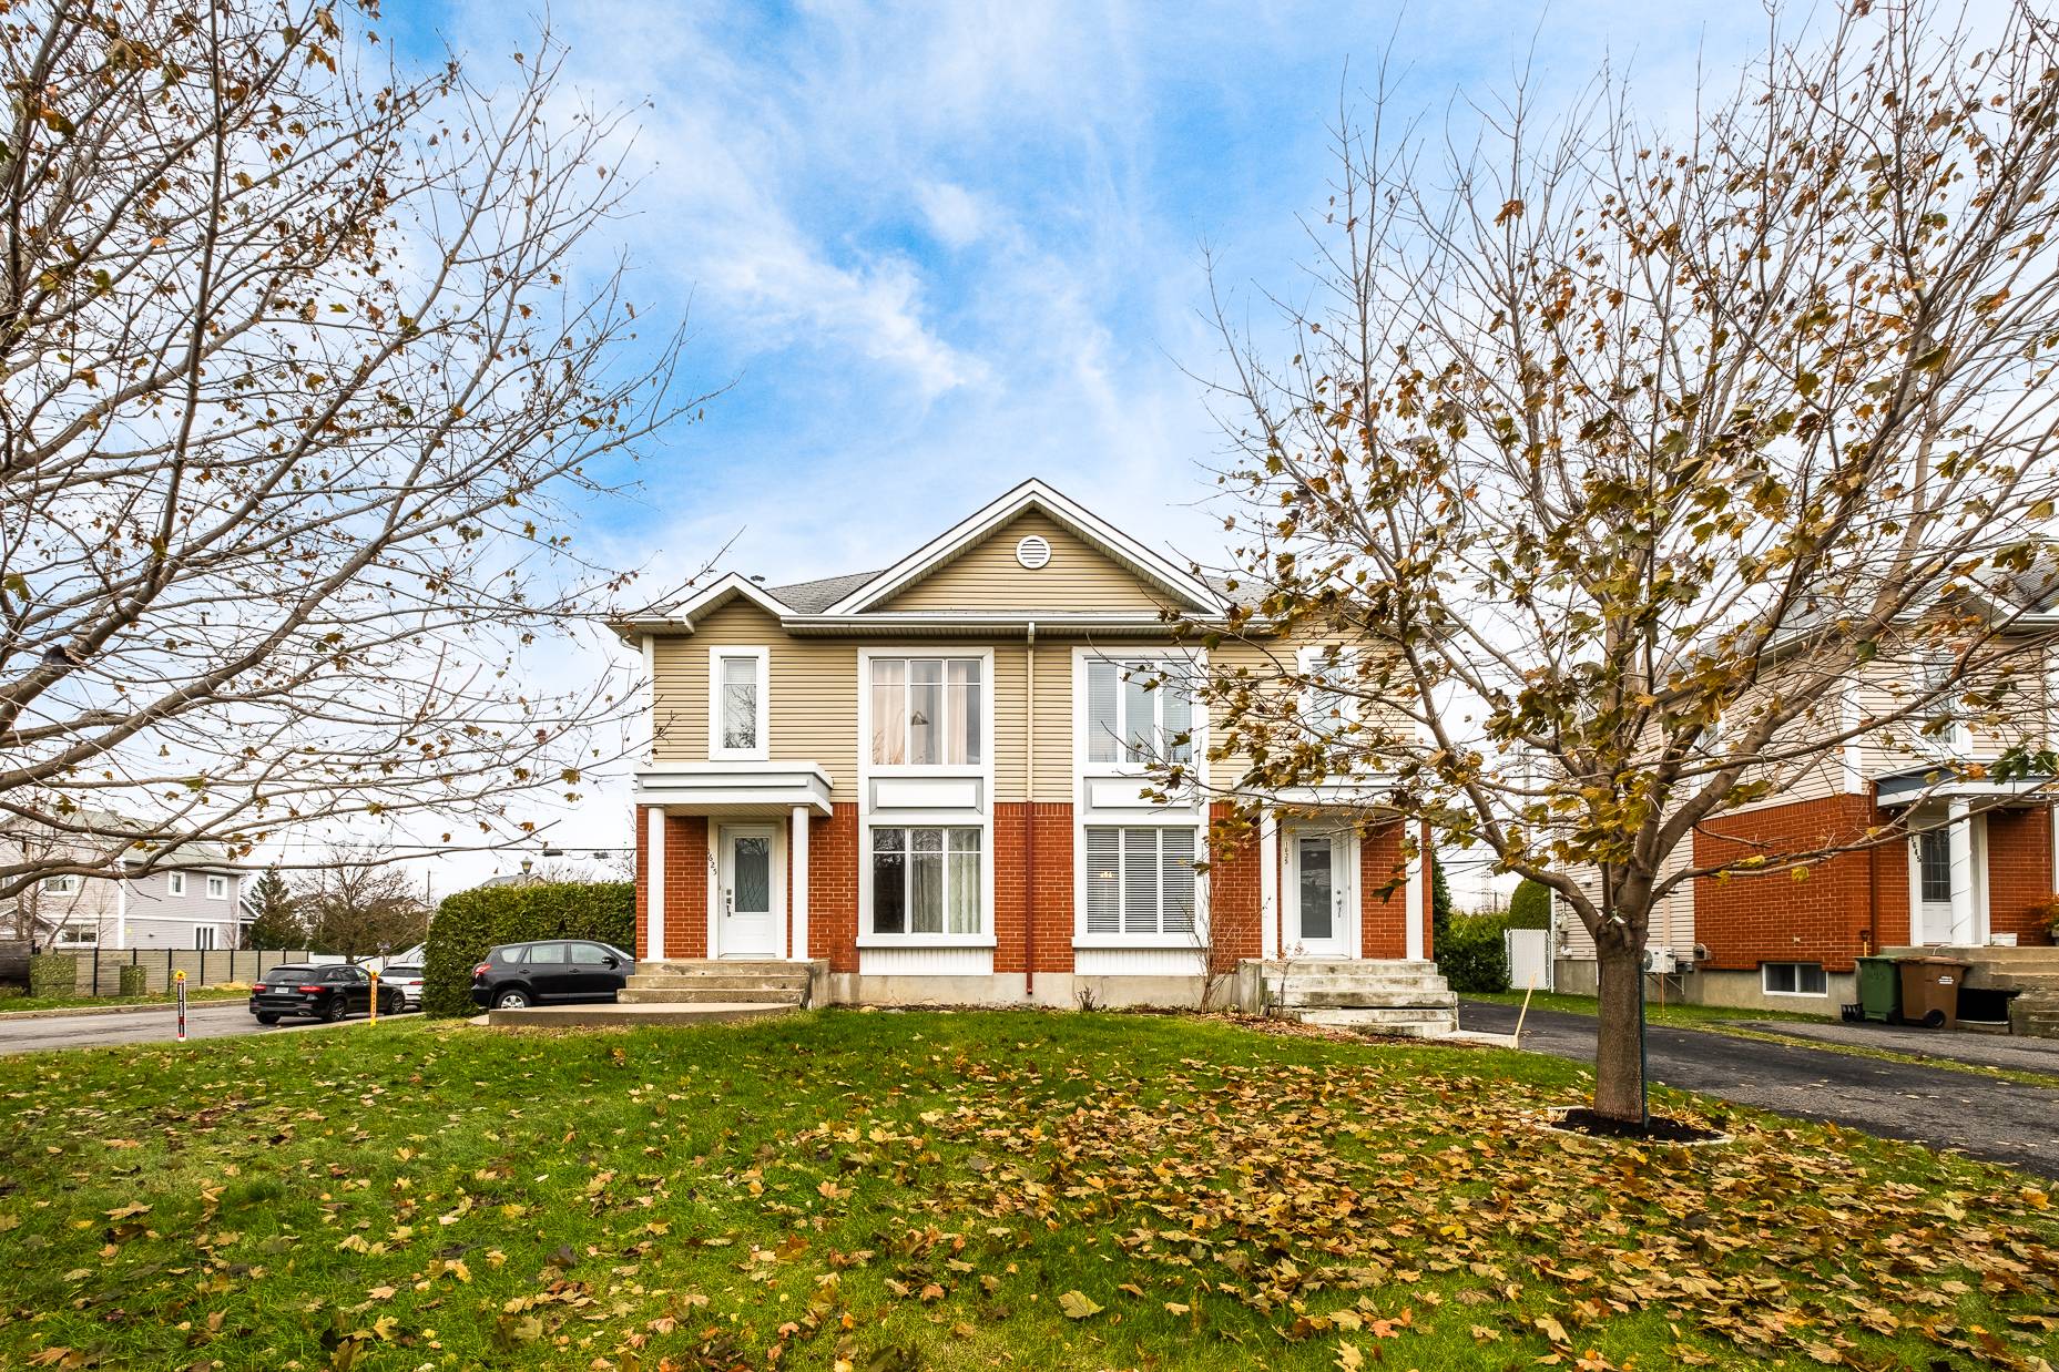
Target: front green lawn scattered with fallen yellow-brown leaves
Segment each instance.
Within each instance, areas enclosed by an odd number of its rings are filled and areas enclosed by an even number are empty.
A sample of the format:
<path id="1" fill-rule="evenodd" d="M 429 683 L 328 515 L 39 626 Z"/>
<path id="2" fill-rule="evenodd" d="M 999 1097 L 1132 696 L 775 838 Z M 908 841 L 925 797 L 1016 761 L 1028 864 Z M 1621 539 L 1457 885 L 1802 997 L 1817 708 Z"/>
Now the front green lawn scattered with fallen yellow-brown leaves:
<path id="1" fill-rule="evenodd" d="M 2038 1366 L 2016 1172 L 1585 1072 L 1112 1014 L 0 1059 L 0 1366 Z M 1666 1096 L 1672 1111 L 1695 1109 Z M 66 1349 L 66 1351 L 58 1351 Z"/>

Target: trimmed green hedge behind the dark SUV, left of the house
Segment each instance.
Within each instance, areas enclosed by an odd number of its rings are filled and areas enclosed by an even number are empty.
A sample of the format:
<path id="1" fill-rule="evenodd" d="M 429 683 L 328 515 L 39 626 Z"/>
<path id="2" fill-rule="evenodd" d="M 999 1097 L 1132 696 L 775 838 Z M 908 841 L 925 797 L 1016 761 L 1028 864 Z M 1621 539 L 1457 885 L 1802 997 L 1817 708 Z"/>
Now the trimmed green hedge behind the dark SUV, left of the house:
<path id="1" fill-rule="evenodd" d="M 537 882 L 445 897 L 428 924 L 422 1008 L 428 1014 L 476 1014 L 472 969 L 488 948 L 533 938 L 593 938 L 634 950 L 636 887 L 626 880 Z"/>

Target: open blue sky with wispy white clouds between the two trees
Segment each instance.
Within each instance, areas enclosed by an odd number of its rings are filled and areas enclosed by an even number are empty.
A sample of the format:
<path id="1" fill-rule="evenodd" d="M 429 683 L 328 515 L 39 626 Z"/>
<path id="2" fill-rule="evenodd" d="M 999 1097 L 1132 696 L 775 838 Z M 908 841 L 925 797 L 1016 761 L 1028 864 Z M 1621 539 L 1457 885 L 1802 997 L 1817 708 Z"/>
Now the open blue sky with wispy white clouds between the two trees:
<path id="1" fill-rule="evenodd" d="M 488 84 L 539 10 L 389 4 L 404 53 L 449 45 Z M 1732 78 L 1758 6 L 1587 0 L 640 4 L 552 14 L 568 78 L 636 105 L 638 309 L 692 302 L 688 374 L 729 389 L 655 444 L 642 490 L 581 543 L 679 574 L 772 582 L 885 566 L 1027 475 L 1182 553 L 1219 553 L 1202 387 L 1221 350 L 1205 251 L 1235 311 L 1305 290 L 1340 93 L 1380 51 L 1400 105 L 1464 128 L 1530 64 L 1544 105 L 1604 62 L 1643 107 Z M 1347 62 L 1351 76 L 1347 78 Z M 603 804 L 579 841 L 620 841 Z"/>

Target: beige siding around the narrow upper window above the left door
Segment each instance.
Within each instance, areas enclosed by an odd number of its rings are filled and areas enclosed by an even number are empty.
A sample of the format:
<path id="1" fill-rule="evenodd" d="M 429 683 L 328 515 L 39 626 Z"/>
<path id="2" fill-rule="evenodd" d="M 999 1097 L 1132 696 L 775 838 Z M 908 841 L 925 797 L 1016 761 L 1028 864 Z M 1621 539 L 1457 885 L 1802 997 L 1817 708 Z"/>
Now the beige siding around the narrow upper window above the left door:
<path id="1" fill-rule="evenodd" d="M 848 642 L 789 638 L 749 601 L 704 615 L 686 638 L 659 638 L 657 759 L 708 759 L 708 650 L 766 648 L 772 761 L 828 769 L 838 800 L 857 798 L 859 650 Z"/>

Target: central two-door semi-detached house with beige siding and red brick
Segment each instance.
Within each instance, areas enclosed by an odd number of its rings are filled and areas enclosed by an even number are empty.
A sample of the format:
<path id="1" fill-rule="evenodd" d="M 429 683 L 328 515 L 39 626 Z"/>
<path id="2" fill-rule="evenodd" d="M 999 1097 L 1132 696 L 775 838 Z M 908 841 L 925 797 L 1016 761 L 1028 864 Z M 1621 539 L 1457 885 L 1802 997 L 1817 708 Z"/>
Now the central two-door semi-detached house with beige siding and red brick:
<path id="1" fill-rule="evenodd" d="M 1149 794 L 1155 753 L 1209 767 L 1180 673 L 1270 662 L 1167 619 L 1227 611 L 1027 481 L 883 572 L 725 576 L 618 623 L 653 681 L 638 956 L 819 959 L 834 1000 L 953 1004 L 1194 1004 L 1244 959 L 1425 959 L 1427 882 L 1369 780 L 1281 796 L 1213 854 L 1221 800 Z"/>

